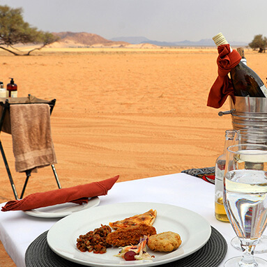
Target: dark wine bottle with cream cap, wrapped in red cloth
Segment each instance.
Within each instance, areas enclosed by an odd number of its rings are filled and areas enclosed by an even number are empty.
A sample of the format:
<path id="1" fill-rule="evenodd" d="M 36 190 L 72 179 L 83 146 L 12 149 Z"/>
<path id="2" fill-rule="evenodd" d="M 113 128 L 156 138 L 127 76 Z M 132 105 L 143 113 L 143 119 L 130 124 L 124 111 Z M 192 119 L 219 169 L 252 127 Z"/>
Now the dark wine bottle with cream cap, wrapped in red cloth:
<path id="1" fill-rule="evenodd" d="M 228 45 L 222 33 L 213 37 L 215 45 Z M 242 61 L 230 71 L 231 82 L 235 96 L 250 96 L 254 98 L 266 98 L 267 89 L 261 78 Z"/>

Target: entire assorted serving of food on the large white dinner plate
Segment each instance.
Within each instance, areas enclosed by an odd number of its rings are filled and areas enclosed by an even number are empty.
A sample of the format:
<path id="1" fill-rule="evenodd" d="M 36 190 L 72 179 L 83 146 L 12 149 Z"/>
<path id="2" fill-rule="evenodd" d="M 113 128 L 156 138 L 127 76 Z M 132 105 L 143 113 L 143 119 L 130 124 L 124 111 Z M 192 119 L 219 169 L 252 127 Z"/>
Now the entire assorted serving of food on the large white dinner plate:
<path id="1" fill-rule="evenodd" d="M 107 251 L 107 247 L 114 245 L 120 247 L 119 254 L 115 256 L 122 257 L 125 261 L 153 259 L 154 256 L 146 251 L 147 247 L 158 252 L 176 250 L 182 243 L 181 237 L 172 231 L 157 234 L 152 226 L 156 215 L 157 211 L 150 209 L 124 220 L 109 222 L 109 225 L 101 224 L 100 228 L 77 238 L 77 249 L 102 254 Z"/>

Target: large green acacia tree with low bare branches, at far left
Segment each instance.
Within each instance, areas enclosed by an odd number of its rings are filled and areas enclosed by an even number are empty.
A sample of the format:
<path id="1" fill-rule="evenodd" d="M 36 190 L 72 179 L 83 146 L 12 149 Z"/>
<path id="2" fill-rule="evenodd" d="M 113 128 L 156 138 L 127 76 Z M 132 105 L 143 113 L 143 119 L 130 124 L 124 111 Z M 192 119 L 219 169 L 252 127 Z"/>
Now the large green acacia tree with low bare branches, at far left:
<path id="1" fill-rule="evenodd" d="M 29 55 L 36 49 L 54 43 L 59 37 L 47 31 L 38 31 L 36 27 L 24 22 L 22 8 L 0 6 L 0 49 L 4 49 L 16 56 Z M 26 54 L 15 48 L 16 44 L 40 44 L 40 47 L 31 49 Z"/>

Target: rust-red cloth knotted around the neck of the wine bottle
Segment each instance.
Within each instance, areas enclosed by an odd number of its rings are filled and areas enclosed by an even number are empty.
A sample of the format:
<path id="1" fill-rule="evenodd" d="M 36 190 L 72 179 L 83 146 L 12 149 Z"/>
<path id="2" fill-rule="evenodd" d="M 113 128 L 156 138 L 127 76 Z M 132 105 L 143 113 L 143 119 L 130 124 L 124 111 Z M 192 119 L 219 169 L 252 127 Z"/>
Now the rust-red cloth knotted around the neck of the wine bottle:
<path id="1" fill-rule="evenodd" d="M 218 52 L 218 77 L 208 94 L 207 103 L 207 106 L 215 107 L 216 109 L 222 107 L 227 96 L 234 98 L 234 88 L 228 73 L 241 61 L 241 55 L 236 50 L 231 52 L 230 45 L 220 45 Z"/>

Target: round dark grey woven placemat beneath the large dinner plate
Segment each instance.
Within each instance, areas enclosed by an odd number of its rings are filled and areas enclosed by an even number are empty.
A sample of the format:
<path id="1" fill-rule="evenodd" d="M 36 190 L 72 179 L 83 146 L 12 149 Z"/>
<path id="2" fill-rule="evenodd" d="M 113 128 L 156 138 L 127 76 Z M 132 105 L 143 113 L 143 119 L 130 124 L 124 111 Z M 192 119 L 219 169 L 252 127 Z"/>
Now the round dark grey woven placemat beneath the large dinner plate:
<path id="1" fill-rule="evenodd" d="M 218 230 L 211 227 L 211 237 L 204 247 L 178 261 L 162 264 L 161 267 L 216 267 L 224 259 L 227 252 L 227 242 Z M 82 267 L 72 261 L 67 261 L 52 252 L 47 244 L 47 231 L 38 236 L 26 250 L 26 267 Z"/>

